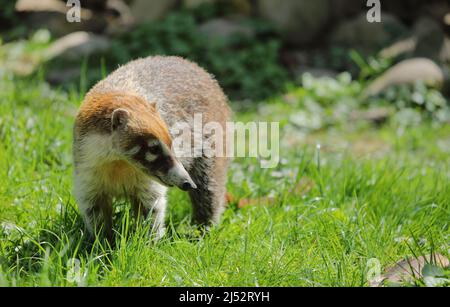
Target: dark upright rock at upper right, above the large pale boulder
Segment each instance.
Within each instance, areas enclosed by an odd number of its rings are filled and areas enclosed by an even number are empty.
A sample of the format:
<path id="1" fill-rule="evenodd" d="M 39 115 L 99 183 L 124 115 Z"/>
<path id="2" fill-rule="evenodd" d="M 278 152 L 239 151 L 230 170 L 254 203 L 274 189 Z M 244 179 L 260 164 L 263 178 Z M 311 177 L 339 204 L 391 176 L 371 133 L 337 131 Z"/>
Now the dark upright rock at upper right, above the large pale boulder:
<path id="1" fill-rule="evenodd" d="M 445 34 L 437 22 L 428 17 L 420 18 L 414 25 L 414 36 L 417 37 L 414 57 L 439 59 Z"/>

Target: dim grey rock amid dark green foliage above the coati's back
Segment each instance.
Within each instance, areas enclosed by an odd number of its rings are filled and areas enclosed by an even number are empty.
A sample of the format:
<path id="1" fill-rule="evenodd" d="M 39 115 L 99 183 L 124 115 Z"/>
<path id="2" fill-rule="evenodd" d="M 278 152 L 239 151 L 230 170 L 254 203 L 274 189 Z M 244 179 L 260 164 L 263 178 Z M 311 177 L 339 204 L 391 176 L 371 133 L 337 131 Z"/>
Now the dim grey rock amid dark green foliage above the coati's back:
<path id="1" fill-rule="evenodd" d="M 200 25 L 199 31 L 209 38 L 227 39 L 233 35 L 242 35 L 245 37 L 254 36 L 252 28 L 242 25 L 238 21 L 224 18 L 212 19 Z"/>

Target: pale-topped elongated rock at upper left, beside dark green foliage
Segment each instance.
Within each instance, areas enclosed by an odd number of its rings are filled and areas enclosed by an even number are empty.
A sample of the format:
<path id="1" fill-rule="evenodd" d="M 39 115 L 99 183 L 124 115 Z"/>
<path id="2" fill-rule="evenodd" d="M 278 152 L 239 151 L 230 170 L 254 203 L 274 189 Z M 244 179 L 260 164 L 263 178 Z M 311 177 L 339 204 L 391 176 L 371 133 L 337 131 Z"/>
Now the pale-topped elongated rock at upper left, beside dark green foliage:
<path id="1" fill-rule="evenodd" d="M 108 38 L 87 32 L 74 32 L 53 42 L 45 53 L 46 59 L 65 57 L 78 59 L 97 52 L 103 52 L 110 47 Z"/>

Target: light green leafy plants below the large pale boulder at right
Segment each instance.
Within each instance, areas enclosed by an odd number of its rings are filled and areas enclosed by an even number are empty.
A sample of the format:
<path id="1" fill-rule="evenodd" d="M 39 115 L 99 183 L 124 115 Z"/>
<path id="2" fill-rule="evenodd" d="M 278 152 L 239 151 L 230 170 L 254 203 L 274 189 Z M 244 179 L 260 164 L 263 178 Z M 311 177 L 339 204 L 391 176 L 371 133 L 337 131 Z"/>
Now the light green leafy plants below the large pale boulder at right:
<path id="1" fill-rule="evenodd" d="M 368 77 L 372 78 L 370 75 Z M 347 125 L 355 120 L 379 123 L 390 119 L 401 127 L 417 126 L 423 121 L 436 124 L 450 122 L 450 106 L 446 98 L 437 89 L 422 82 L 391 86 L 369 98 L 363 96 L 368 82 L 352 80 L 348 72 L 336 78 L 316 78 L 305 73 L 301 83 L 300 87 L 288 87 L 283 100 L 298 110 L 291 114 L 290 121 L 306 130 Z"/>

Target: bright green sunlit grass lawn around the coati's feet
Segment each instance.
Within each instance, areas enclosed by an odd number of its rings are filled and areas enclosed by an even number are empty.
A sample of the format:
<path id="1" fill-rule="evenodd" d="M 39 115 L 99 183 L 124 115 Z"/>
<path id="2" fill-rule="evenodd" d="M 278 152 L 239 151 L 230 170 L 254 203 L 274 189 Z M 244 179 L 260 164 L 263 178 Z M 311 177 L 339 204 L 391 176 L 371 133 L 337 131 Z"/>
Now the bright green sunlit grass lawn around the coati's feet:
<path id="1" fill-rule="evenodd" d="M 80 96 L 40 81 L 0 83 L 0 285 L 366 286 L 369 259 L 384 268 L 448 256 L 448 125 L 303 133 L 282 101 L 237 112 L 281 122 L 282 163 L 264 170 L 236 159 L 235 201 L 210 234 L 196 236 L 189 201 L 173 190 L 160 242 L 134 229 L 126 203 L 117 204 L 116 246 L 90 242 L 71 195 Z"/>

